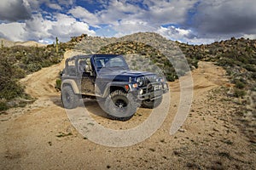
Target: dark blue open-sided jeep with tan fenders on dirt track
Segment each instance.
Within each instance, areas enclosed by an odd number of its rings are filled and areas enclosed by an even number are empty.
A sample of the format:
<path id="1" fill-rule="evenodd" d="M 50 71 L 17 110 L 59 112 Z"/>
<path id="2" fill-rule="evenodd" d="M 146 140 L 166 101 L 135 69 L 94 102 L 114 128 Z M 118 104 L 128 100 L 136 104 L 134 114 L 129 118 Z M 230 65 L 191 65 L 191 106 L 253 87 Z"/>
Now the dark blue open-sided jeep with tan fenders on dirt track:
<path id="1" fill-rule="evenodd" d="M 128 120 L 140 105 L 160 105 L 168 91 L 163 77 L 152 72 L 131 71 L 122 55 L 77 55 L 66 60 L 61 76 L 61 99 L 67 109 L 81 98 L 99 101 L 108 116 Z"/>

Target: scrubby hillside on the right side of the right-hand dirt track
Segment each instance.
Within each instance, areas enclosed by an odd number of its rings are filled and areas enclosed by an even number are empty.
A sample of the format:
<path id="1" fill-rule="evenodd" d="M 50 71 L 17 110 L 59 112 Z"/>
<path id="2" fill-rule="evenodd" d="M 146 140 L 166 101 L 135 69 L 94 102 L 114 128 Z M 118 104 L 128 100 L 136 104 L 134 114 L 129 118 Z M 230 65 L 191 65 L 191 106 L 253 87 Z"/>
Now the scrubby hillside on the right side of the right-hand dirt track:
<path id="1" fill-rule="evenodd" d="M 208 45 L 191 46 L 179 43 L 187 58 L 212 61 L 223 66 L 234 87 L 227 95 L 236 105 L 241 105 L 236 117 L 241 122 L 244 133 L 256 143 L 256 40 L 245 38 L 213 42 Z"/>

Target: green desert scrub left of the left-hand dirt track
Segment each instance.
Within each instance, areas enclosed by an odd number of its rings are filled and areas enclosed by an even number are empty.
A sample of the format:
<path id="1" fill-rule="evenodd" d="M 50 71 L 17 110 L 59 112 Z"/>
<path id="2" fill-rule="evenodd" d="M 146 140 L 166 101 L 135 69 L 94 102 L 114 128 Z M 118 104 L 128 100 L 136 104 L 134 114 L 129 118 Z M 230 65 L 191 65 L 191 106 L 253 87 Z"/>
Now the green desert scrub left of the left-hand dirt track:
<path id="1" fill-rule="evenodd" d="M 4 47 L 0 48 L 0 111 L 10 107 L 23 106 L 32 98 L 25 93 L 19 80 L 32 72 L 59 63 L 65 46 L 47 47 Z"/>

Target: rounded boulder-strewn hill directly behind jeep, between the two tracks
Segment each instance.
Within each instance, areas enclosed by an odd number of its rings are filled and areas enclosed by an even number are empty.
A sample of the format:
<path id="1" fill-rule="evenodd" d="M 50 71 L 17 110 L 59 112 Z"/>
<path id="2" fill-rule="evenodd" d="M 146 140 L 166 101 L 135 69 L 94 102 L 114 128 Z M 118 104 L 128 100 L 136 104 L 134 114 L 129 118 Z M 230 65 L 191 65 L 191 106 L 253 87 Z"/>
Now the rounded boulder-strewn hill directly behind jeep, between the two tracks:
<path id="1" fill-rule="evenodd" d="M 86 54 L 128 54 L 129 60 L 134 63 L 133 68 L 154 71 L 157 66 L 168 81 L 183 76 L 190 69 L 194 69 L 198 62 L 192 58 L 186 59 L 176 42 L 153 32 L 135 33 L 119 38 L 83 36 L 73 40 L 78 41 L 74 48 Z M 149 66 L 143 66 L 146 64 L 143 60 L 148 61 Z"/>

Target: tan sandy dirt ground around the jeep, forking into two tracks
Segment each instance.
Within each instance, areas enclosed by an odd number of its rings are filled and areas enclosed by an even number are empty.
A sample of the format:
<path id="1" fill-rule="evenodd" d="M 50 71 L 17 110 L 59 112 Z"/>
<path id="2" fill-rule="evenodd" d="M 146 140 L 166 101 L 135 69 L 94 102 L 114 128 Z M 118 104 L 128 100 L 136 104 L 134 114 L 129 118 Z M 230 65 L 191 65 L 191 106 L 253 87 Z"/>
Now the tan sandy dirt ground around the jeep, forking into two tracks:
<path id="1" fill-rule="evenodd" d="M 65 57 L 72 56 L 68 51 Z M 170 135 L 180 99 L 170 82 L 171 105 L 160 128 L 127 147 L 108 147 L 84 138 L 69 121 L 55 91 L 63 62 L 21 80 L 37 100 L 0 116 L 0 169 L 255 169 L 255 148 L 234 121 L 238 105 L 223 94 L 229 86 L 222 68 L 200 62 L 193 71 L 194 96 L 183 127 Z M 186 78 L 186 77 L 182 77 Z M 95 100 L 84 105 L 96 122 L 113 129 L 136 127 L 151 110 L 139 109 L 127 122 L 107 119 Z M 93 124 L 92 124 L 93 126 Z"/>

